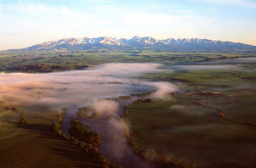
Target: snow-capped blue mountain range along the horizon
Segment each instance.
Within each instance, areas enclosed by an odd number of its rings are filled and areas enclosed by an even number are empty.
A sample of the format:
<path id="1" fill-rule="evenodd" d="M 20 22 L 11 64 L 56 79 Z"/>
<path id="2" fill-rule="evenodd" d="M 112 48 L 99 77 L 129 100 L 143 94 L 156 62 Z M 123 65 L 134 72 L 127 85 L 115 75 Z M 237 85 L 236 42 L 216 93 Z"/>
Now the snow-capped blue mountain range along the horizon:
<path id="1" fill-rule="evenodd" d="M 60 40 L 47 41 L 26 48 L 27 50 L 43 50 L 43 49 L 154 49 L 155 51 L 207 51 L 207 52 L 244 52 L 256 51 L 256 46 L 233 43 L 231 41 L 219 41 L 209 39 L 174 39 L 168 38 L 157 40 L 150 36 L 135 36 L 131 39 L 117 39 L 113 37 L 97 37 L 97 38 L 64 38 Z"/>

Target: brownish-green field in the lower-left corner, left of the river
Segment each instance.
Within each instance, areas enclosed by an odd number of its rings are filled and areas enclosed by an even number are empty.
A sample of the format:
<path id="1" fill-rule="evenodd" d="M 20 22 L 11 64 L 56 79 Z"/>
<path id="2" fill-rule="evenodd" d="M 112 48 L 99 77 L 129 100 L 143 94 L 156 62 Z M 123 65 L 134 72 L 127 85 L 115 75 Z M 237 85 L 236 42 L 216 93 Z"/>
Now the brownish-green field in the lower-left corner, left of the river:
<path id="1" fill-rule="evenodd" d="M 29 125 L 19 125 L 23 113 Z M 1 167 L 101 167 L 83 149 L 52 132 L 58 116 L 35 106 L 19 106 L 18 111 L 0 107 Z"/>

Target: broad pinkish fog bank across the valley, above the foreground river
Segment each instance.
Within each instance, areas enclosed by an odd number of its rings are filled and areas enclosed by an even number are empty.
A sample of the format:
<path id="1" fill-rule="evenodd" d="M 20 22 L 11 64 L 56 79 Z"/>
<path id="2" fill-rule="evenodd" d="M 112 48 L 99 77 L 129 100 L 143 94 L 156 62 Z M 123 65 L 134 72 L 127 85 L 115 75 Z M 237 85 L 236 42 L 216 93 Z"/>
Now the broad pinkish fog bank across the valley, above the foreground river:
<path id="1" fill-rule="evenodd" d="M 11 104 L 84 106 L 103 98 L 159 90 L 172 91 L 170 83 L 153 83 L 131 78 L 161 72 L 160 64 L 103 64 L 81 71 L 54 73 L 0 73 L 0 100 Z"/>

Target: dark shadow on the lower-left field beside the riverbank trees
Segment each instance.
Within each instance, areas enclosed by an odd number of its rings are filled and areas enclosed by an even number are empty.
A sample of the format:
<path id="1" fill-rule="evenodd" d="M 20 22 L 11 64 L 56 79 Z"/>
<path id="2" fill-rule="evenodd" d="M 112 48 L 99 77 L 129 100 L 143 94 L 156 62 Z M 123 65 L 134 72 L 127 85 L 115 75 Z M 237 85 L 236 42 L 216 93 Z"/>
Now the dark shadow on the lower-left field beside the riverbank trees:
<path id="1" fill-rule="evenodd" d="M 63 158 L 61 159 L 70 161 L 77 167 L 102 167 L 97 165 L 98 162 L 95 161 L 92 156 L 84 152 L 82 148 L 55 135 L 55 133 L 51 130 L 51 125 L 29 124 L 23 126 L 20 125 L 17 127 L 22 128 L 26 132 L 38 134 L 36 138 L 50 140 L 51 145 L 45 146 L 45 148 L 51 149 L 53 153 L 62 156 Z"/>

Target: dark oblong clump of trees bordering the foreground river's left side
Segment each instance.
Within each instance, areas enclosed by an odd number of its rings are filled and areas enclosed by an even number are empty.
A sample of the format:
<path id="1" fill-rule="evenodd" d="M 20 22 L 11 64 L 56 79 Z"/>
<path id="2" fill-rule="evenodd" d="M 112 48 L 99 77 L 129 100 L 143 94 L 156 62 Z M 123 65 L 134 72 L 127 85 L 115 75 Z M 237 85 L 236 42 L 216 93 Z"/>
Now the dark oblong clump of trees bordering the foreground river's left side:
<path id="1" fill-rule="evenodd" d="M 101 143 L 99 133 L 91 131 L 88 125 L 77 120 L 70 120 L 69 124 L 71 127 L 68 129 L 68 132 L 71 136 L 85 141 L 87 144 L 99 145 Z"/>

